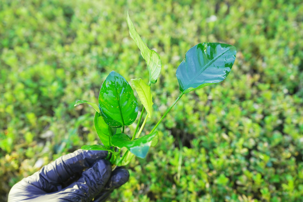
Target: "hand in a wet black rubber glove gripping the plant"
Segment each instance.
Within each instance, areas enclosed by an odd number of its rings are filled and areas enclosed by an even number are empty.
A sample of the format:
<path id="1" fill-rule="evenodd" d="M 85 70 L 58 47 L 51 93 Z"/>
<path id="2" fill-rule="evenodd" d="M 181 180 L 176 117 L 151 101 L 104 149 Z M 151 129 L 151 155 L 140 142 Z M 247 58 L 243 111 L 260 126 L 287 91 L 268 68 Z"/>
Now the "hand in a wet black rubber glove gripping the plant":
<path id="1" fill-rule="evenodd" d="M 126 169 L 112 172 L 111 164 L 104 159 L 107 154 L 107 151 L 77 150 L 64 155 L 15 184 L 8 202 L 105 201 L 129 178 Z"/>

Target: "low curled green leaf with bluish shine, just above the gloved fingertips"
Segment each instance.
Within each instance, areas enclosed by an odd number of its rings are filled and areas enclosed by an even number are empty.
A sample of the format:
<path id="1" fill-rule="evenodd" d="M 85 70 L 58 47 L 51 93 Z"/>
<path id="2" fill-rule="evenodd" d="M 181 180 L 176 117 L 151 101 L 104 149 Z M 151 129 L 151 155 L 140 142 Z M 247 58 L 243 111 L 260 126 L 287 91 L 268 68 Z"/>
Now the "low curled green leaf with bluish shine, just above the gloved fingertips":
<path id="1" fill-rule="evenodd" d="M 118 148 L 126 147 L 135 156 L 145 158 L 151 146 L 153 138 L 158 134 L 157 131 L 137 138 L 133 141 L 124 133 L 115 134 L 112 137 L 112 145 Z"/>

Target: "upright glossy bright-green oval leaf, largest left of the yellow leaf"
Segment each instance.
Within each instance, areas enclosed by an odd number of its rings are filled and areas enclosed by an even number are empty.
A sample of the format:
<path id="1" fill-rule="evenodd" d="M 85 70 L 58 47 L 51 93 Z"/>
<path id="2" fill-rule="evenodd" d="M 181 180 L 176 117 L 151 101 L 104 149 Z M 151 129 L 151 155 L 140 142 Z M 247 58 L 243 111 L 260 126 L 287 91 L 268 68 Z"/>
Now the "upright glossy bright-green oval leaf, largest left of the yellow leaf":
<path id="1" fill-rule="evenodd" d="M 138 102 L 134 91 L 115 71 L 109 73 L 101 86 L 99 108 L 105 123 L 111 127 L 128 126 L 137 118 Z"/>

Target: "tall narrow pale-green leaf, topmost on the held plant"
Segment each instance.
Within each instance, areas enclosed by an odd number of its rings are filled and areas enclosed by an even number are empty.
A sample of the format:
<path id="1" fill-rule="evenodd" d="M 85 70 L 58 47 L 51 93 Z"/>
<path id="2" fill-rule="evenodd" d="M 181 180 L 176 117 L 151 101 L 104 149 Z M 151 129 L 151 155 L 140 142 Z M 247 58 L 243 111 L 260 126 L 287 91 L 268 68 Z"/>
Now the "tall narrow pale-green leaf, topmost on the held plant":
<path id="1" fill-rule="evenodd" d="M 135 41 L 137 46 L 139 47 L 142 57 L 145 59 L 147 66 L 148 66 L 148 71 L 149 71 L 149 81 L 154 84 L 157 82 L 157 79 L 160 75 L 161 72 L 161 66 L 162 62 L 160 59 L 160 56 L 156 51 L 150 50 L 145 43 L 142 41 L 141 37 L 139 34 L 136 32 L 135 27 L 129 18 L 129 15 L 127 13 L 127 18 L 126 18 L 128 28 L 129 28 L 129 35 L 131 38 Z"/>

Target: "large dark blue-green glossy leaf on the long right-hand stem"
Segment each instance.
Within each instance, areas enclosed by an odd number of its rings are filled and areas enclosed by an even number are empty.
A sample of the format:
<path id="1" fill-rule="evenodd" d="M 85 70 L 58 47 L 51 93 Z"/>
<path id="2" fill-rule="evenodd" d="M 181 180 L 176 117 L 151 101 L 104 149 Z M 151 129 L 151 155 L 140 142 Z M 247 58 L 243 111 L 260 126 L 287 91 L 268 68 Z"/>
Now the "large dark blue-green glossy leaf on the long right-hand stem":
<path id="1" fill-rule="evenodd" d="M 190 48 L 177 69 L 180 91 L 185 94 L 223 81 L 236 59 L 235 46 L 200 43 Z"/>

